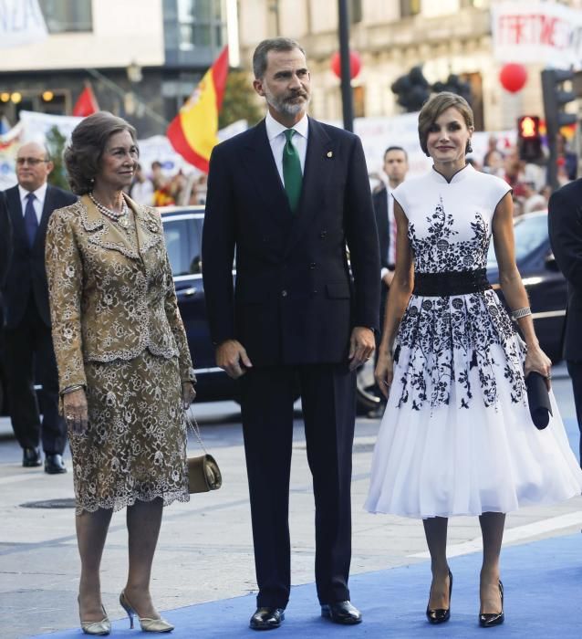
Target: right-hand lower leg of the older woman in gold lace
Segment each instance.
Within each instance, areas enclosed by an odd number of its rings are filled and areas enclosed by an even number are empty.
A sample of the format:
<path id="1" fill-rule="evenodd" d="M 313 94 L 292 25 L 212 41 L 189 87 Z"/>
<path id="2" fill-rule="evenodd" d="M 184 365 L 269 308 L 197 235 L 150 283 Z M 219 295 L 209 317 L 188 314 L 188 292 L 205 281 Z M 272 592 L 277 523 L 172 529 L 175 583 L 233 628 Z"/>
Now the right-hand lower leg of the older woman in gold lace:
<path id="1" fill-rule="evenodd" d="M 161 498 L 136 501 L 128 507 L 127 522 L 130 547 L 130 571 L 125 594 L 140 617 L 158 619 L 150 595 L 151 563 L 161 527 Z"/>

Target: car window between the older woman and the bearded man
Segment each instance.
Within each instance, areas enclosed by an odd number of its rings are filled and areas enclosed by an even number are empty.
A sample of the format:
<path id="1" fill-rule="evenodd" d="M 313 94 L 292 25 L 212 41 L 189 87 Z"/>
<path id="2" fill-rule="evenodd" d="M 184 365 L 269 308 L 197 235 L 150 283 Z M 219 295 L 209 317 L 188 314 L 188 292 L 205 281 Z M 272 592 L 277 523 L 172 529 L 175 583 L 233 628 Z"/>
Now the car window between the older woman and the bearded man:
<path id="1" fill-rule="evenodd" d="M 202 273 L 203 220 L 164 220 L 163 233 L 170 258 L 171 274 L 176 277 Z"/>

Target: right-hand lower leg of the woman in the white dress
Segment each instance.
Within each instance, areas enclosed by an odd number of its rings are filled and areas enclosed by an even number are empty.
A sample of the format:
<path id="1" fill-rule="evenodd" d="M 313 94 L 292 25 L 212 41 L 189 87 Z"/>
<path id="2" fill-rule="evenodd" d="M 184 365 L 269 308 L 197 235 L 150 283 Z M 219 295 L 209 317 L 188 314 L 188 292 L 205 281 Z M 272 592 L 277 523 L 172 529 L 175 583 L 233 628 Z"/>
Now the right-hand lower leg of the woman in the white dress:
<path id="1" fill-rule="evenodd" d="M 483 566 L 481 568 L 481 612 L 500 613 L 501 596 L 499 594 L 499 556 L 504 538 L 505 514 L 503 512 L 484 512 L 479 518 L 483 534 Z"/>

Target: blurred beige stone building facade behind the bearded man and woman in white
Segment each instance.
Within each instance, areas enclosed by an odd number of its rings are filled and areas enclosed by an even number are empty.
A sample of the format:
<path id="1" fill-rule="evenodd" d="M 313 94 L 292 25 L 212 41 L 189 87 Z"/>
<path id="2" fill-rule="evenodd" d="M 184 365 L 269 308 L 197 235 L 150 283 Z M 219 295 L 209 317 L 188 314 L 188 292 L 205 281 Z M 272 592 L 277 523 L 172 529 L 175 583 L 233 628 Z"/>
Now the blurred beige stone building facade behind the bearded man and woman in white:
<path id="1" fill-rule="evenodd" d="M 350 46 L 362 63 L 352 80 L 356 116 L 402 112 L 390 87 L 418 65 L 431 84 L 451 74 L 470 83 L 478 130 L 514 129 L 517 117 L 525 112 L 543 115 L 541 67 L 528 66 L 527 84 L 516 94 L 500 84 L 501 65 L 492 47 L 494 2 L 348 0 Z M 280 35 L 299 40 L 313 78 L 312 113 L 323 120 L 341 120 L 339 80 L 330 69 L 330 58 L 338 50 L 337 0 L 240 0 L 240 31 L 242 59 L 249 65 L 263 38 Z"/>

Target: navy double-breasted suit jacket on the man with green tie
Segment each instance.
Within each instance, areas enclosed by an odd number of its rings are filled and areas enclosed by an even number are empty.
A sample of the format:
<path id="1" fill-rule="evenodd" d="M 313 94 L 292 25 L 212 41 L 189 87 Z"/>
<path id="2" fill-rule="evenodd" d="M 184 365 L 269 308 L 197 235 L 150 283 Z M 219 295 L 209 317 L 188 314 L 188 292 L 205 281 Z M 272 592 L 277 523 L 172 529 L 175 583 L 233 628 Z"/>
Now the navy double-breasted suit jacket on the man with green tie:
<path id="1" fill-rule="evenodd" d="M 354 326 L 378 328 L 378 237 L 359 138 L 309 118 L 293 215 L 263 120 L 214 148 L 208 194 L 203 275 L 214 343 L 240 340 L 255 366 L 339 362 Z"/>

